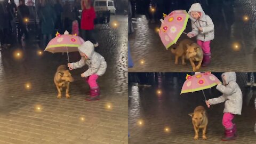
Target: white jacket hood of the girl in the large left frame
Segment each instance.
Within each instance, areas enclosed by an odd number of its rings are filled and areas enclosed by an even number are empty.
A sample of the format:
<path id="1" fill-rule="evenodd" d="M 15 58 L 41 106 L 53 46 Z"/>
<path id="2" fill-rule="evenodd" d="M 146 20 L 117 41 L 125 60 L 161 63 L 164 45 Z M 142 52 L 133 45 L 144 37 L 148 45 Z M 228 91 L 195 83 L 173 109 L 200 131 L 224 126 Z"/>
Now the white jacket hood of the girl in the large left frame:
<path id="1" fill-rule="evenodd" d="M 92 57 L 92 54 L 94 53 L 94 45 L 92 42 L 86 41 L 78 47 L 78 51 L 86 54 L 88 59 L 90 59 Z"/>

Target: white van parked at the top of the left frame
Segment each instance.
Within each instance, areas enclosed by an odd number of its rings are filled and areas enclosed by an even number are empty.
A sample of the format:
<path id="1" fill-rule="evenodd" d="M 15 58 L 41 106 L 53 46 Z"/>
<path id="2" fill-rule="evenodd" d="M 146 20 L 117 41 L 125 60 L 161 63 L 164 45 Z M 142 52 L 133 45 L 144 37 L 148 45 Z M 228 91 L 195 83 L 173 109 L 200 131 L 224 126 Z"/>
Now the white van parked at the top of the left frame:
<path id="1" fill-rule="evenodd" d="M 110 11 L 111 14 L 116 14 L 114 1 L 110 0 L 94 0 L 95 11 Z"/>

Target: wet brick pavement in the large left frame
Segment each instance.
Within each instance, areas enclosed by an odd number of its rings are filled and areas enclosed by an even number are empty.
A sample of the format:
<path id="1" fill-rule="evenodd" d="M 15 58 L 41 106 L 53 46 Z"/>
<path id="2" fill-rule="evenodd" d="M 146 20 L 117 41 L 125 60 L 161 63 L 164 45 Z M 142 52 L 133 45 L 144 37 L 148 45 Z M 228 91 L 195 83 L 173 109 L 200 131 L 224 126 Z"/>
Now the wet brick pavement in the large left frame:
<path id="1" fill-rule="evenodd" d="M 127 143 L 127 15 L 115 15 L 118 28 L 97 25 L 99 52 L 107 61 L 99 77 L 101 100 L 85 101 L 85 68 L 71 71 L 70 99 L 57 99 L 53 78 L 67 54 L 44 52 L 31 36 L 22 46 L 0 51 L 0 143 Z M 20 59 L 14 53 L 20 48 Z M 70 53 L 71 61 L 76 54 Z M 25 84 L 29 83 L 29 87 Z"/>

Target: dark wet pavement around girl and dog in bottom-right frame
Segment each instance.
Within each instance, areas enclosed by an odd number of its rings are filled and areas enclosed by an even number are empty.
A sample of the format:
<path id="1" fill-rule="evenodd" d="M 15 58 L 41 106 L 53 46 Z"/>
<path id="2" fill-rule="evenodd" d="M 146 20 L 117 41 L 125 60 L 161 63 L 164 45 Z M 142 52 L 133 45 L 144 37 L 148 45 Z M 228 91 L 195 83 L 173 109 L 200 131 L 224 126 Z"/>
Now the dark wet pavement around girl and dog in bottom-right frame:
<path id="1" fill-rule="evenodd" d="M 134 76 L 135 73 L 129 73 Z M 242 115 L 236 115 L 233 122 L 237 125 L 238 137 L 234 141 L 222 142 L 222 111 L 224 103 L 206 108 L 202 91 L 180 95 L 181 87 L 187 73 L 148 73 L 148 84 L 151 86 L 129 86 L 129 143 L 255 143 L 254 124 L 256 121 L 253 98 L 247 106 L 243 103 Z M 246 74 L 236 73 L 237 83 L 246 101 Z M 216 75 L 216 74 L 214 74 Z M 220 74 L 218 74 L 220 77 Z M 131 82 L 134 82 L 132 80 Z M 161 90 L 162 94 L 157 94 Z M 215 87 L 204 90 L 206 98 L 218 97 L 221 93 Z M 196 106 L 202 105 L 208 113 L 207 140 L 195 141 L 194 129 L 189 113 Z"/>

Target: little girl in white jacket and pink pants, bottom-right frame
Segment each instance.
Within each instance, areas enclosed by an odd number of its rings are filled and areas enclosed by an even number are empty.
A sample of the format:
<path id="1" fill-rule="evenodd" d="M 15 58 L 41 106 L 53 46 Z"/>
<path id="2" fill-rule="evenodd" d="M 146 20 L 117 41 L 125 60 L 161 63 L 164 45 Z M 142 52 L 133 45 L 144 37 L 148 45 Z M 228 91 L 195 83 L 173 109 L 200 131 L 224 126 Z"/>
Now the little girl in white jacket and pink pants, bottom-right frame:
<path id="1" fill-rule="evenodd" d="M 223 85 L 218 84 L 217 90 L 223 94 L 218 98 L 213 98 L 205 101 L 206 105 L 215 105 L 225 101 L 225 109 L 223 111 L 222 125 L 225 127 L 225 137 L 221 140 L 234 140 L 237 136 L 236 125 L 232 123 L 235 115 L 241 115 L 243 96 L 242 91 L 236 83 L 236 73 L 226 72 L 221 75 Z"/>

